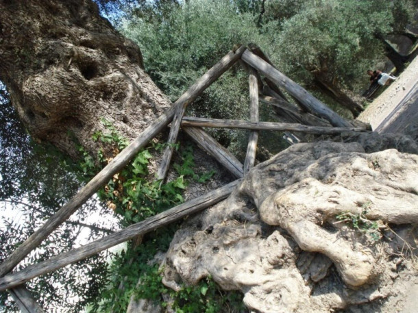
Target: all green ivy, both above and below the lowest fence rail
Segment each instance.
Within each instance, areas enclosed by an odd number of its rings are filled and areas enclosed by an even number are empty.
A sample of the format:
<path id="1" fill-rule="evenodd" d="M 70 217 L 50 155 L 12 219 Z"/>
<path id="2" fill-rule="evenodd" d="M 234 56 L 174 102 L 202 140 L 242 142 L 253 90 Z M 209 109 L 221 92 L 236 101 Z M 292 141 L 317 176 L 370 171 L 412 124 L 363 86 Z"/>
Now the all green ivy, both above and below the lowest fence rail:
<path id="1" fill-rule="evenodd" d="M 127 140 L 108 121 L 103 120 L 102 123 L 106 132 L 97 132 L 93 136 L 93 140 L 103 147 L 97 155 L 93 157 L 79 147 L 82 155 L 79 172 L 85 179 L 93 177 L 127 146 Z M 175 148 L 180 150 L 178 145 Z M 182 203 L 182 194 L 191 180 L 204 184 L 214 174 L 214 171 L 195 173 L 193 149 L 187 146 L 180 151 L 181 164 L 173 165 L 177 177 L 162 184 L 162 181 L 155 179 L 149 172 L 153 153 L 162 149 L 164 145 L 158 144 L 143 149 L 97 192 L 99 199 L 122 217 L 123 227 Z M 169 305 L 178 313 L 245 312 L 242 295 L 238 292 L 222 291 L 210 277 L 202 279 L 197 286 L 184 286 L 180 292 L 174 292 L 162 284 L 158 264 L 153 264 L 152 260 L 158 252 L 167 251 L 176 229 L 176 223 L 156 229 L 146 234 L 138 247 L 130 242 L 126 249 L 114 253 L 101 299 L 91 304 L 88 311 L 125 312 L 134 295 L 136 298 L 160 303 L 163 307 Z M 136 286 L 138 280 L 140 284 Z M 164 302 L 162 295 L 167 295 L 171 299 L 170 303 Z"/>

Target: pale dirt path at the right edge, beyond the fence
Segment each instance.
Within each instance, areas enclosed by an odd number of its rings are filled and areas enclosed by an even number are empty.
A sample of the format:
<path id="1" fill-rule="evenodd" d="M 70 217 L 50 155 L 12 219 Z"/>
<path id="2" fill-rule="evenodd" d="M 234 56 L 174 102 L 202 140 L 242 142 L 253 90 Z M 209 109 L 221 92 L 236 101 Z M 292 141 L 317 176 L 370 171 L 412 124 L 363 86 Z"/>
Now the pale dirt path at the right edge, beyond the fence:
<path id="1" fill-rule="evenodd" d="M 376 98 L 358 119 L 379 133 L 402 133 L 418 140 L 418 58 Z"/>

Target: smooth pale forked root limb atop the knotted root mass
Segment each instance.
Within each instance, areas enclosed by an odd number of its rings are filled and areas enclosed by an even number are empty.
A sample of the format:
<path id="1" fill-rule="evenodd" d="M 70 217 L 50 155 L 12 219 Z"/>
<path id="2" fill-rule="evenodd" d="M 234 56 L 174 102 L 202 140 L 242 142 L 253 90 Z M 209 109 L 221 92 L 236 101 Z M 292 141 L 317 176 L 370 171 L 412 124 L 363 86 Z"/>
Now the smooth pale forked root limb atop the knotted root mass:
<path id="1" fill-rule="evenodd" d="M 362 214 L 386 223 L 418 223 L 418 173 L 400 167 L 418 162 L 395 150 L 350 159 L 352 173 L 334 168 L 332 175 L 326 173 L 332 177 L 325 179 L 326 184 L 311 177 L 279 190 L 262 202 L 260 216 L 265 223 L 286 229 L 305 251 L 328 256 L 347 285 L 361 286 L 373 278 L 376 268 L 371 250 L 321 225 L 333 225 L 341 214 Z M 347 155 L 334 155 L 327 162 L 344 164 L 346 160 Z M 350 181 L 343 178 L 347 174 Z"/>

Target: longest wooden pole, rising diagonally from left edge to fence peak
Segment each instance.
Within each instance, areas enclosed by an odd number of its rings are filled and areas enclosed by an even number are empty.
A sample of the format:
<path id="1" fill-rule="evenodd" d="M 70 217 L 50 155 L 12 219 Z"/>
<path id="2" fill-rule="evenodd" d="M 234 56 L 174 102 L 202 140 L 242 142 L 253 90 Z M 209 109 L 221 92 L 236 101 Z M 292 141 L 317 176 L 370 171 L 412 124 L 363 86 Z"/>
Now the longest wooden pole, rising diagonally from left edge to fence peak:
<path id="1" fill-rule="evenodd" d="M 145 131 L 140 134 L 133 142 L 130 143 L 119 155 L 109 162 L 109 164 L 103 168 L 92 180 L 86 184 L 77 195 L 75 195 L 68 203 L 66 203 L 56 214 L 54 214 L 49 220 L 42 225 L 37 231 L 29 236 L 25 242 L 23 242 L 9 257 L 0 264 L 0 277 L 4 276 L 6 273 L 12 271 L 14 266 L 21 262 L 26 255 L 28 255 L 32 250 L 34 250 L 40 242 L 47 238 L 51 232 L 60 226 L 64 221 L 66 221 L 71 214 L 73 214 L 84 202 L 86 202 L 94 193 L 99 190 L 101 186 L 106 184 L 109 179 L 113 177 L 114 174 L 121 171 L 121 169 L 128 163 L 140 149 L 145 147 L 149 140 L 154 138 L 158 133 L 166 127 L 171 120 L 175 112 L 182 108 L 184 103 L 190 103 L 195 100 L 201 91 L 203 91 L 207 86 L 210 85 L 217 79 L 223 71 L 226 71 L 229 66 L 231 66 L 235 60 L 237 60 L 241 53 L 245 50 L 245 47 L 239 47 L 236 52 L 231 51 L 228 53 L 229 57 L 227 60 L 223 58 L 221 62 L 214 65 L 210 68 L 208 73 L 203 77 L 197 80 L 197 82 L 190 87 L 175 103 L 162 114 L 156 121 L 153 121 Z M 216 68 L 216 69 L 213 69 Z"/>

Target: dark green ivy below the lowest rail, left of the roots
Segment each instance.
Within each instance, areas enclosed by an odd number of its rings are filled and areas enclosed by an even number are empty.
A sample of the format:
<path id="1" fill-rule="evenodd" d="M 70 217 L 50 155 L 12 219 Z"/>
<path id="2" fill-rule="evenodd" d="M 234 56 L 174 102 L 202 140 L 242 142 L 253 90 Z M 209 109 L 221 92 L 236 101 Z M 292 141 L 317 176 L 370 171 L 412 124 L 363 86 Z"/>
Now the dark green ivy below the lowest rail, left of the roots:
<path id="1" fill-rule="evenodd" d="M 176 313 L 247 312 L 240 292 L 225 292 L 210 277 L 202 279 L 197 286 L 182 286 L 179 292 L 162 284 L 161 271 L 152 258 L 158 251 L 167 251 L 174 232 L 175 226 L 159 229 L 144 238 L 144 245 L 116 255 L 110 266 L 108 286 L 101 293 L 101 302 L 92 305 L 92 311 L 126 312 L 134 297 L 149 299 L 162 308 L 170 307 Z M 121 282 L 123 288 L 119 288 Z"/>

